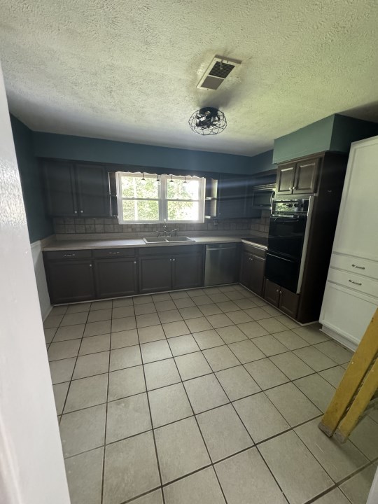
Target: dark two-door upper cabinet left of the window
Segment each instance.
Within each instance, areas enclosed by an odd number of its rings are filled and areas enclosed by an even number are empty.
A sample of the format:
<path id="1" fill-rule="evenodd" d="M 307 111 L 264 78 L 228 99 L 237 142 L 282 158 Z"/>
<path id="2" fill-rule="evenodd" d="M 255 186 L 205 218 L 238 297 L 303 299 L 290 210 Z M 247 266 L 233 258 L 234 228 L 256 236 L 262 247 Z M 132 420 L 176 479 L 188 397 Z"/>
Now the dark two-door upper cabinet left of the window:
<path id="1" fill-rule="evenodd" d="M 48 213 L 56 217 L 109 217 L 109 175 L 97 164 L 44 161 Z"/>

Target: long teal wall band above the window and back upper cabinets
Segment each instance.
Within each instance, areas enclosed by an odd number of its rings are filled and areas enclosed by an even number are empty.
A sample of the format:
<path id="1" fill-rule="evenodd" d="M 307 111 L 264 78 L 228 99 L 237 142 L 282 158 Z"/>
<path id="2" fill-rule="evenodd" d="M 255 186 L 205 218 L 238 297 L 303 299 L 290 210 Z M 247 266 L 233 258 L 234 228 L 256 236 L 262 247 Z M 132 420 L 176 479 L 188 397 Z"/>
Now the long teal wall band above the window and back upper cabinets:
<path id="1" fill-rule="evenodd" d="M 41 158 L 243 175 L 273 168 L 273 151 L 248 157 L 54 133 L 34 132 L 33 137 L 34 152 Z"/>

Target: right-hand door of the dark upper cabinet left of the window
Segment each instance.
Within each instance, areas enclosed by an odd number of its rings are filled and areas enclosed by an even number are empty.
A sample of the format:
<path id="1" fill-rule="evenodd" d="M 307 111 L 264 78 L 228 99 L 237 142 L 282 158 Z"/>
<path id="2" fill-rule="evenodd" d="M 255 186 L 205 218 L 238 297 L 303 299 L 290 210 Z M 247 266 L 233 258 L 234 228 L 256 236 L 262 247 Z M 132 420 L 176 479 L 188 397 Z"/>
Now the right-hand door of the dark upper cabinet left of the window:
<path id="1" fill-rule="evenodd" d="M 78 214 L 83 217 L 111 215 L 109 176 L 102 165 L 76 165 Z"/>

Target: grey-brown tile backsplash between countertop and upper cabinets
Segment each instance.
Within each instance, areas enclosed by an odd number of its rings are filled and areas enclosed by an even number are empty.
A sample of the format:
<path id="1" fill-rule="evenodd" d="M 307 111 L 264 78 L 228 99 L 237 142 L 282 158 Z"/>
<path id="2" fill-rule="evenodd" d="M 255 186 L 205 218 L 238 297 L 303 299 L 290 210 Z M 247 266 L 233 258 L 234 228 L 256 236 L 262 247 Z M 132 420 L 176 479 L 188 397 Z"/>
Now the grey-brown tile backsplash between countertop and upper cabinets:
<path id="1" fill-rule="evenodd" d="M 267 233 L 269 211 L 262 211 L 261 218 L 225 219 L 205 221 L 203 224 L 169 224 L 168 229 L 182 231 L 232 231 L 252 230 Z M 137 233 L 162 231 L 162 224 L 119 224 L 118 218 L 55 218 L 55 235 L 85 233 Z"/>

